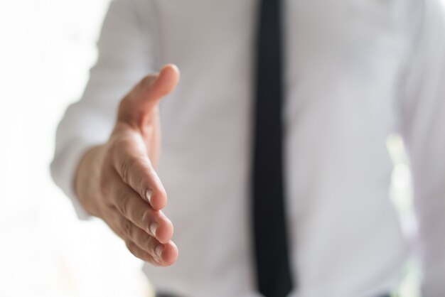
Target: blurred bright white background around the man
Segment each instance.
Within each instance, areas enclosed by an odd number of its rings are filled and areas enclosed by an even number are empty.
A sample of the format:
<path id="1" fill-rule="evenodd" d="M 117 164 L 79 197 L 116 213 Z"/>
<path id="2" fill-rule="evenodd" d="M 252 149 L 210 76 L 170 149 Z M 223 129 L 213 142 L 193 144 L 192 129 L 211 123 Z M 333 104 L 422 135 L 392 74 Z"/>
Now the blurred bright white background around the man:
<path id="1" fill-rule="evenodd" d="M 50 179 L 55 128 L 95 62 L 109 0 L 0 0 L 0 296 L 148 296 L 135 259 L 98 220 L 80 222 Z M 411 180 L 403 144 L 390 196 L 408 234 Z M 402 296 L 417 296 L 407 266 Z"/>

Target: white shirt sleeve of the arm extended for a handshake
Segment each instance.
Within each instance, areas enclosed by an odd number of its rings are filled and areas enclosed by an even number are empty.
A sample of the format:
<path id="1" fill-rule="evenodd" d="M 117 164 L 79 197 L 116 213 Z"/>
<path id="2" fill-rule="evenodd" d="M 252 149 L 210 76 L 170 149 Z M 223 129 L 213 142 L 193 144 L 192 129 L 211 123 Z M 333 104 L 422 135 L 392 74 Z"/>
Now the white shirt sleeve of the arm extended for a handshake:
<path id="1" fill-rule="evenodd" d="M 97 63 L 90 70 L 85 92 L 68 107 L 58 125 L 50 171 L 80 219 L 89 216 L 73 190 L 77 164 L 89 148 L 107 141 L 119 100 L 154 69 L 154 18 L 148 3 L 111 2 L 97 43 Z"/>

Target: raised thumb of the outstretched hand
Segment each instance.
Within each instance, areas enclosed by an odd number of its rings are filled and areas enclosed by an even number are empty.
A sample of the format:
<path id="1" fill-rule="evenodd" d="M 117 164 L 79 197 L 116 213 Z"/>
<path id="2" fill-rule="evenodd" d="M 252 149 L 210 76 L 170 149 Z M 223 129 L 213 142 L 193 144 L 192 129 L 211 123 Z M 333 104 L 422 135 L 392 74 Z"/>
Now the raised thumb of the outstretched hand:
<path id="1" fill-rule="evenodd" d="M 164 65 L 159 74 L 147 75 L 120 102 L 117 121 L 134 128 L 145 126 L 159 100 L 173 92 L 178 81 L 179 70 L 173 64 Z"/>

